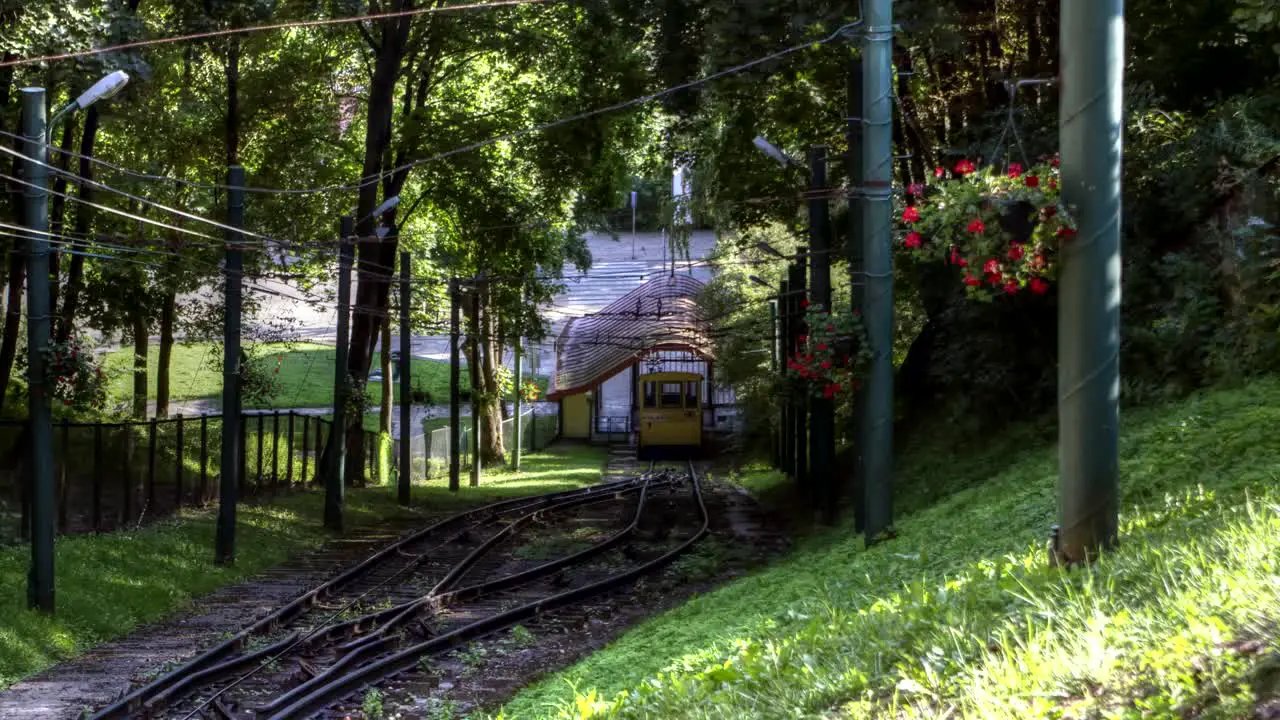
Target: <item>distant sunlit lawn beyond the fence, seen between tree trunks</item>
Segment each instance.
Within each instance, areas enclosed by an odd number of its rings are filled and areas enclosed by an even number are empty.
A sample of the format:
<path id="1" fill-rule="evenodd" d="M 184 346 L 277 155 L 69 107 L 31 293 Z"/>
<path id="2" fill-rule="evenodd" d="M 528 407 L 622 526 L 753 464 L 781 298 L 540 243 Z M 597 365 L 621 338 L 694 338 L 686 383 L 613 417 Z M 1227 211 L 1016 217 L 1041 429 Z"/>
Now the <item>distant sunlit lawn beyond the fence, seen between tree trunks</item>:
<path id="1" fill-rule="evenodd" d="M 175 345 L 170 360 L 169 387 L 172 400 L 221 400 L 223 377 L 210 368 L 210 360 L 218 348 L 210 343 Z M 334 348 L 315 343 L 260 345 L 256 351 L 271 357 L 283 357 L 279 374 L 279 392 L 266 406 L 270 407 L 326 407 L 333 405 L 333 363 Z M 160 350 L 150 348 L 147 356 L 148 391 L 147 397 L 155 400 L 156 373 Z M 375 363 L 378 357 L 374 359 Z M 274 366 L 270 365 L 270 366 Z M 124 347 L 106 355 L 104 368 L 111 375 L 108 395 L 115 402 L 127 402 L 133 397 L 133 348 Z M 376 368 L 376 365 L 375 365 Z M 425 389 L 435 402 L 449 400 L 449 365 L 439 360 L 415 357 L 410 369 L 413 387 Z M 468 389 L 466 373 L 462 375 L 462 388 Z M 381 383 L 369 383 L 370 402 L 381 397 Z M 399 383 L 393 388 L 396 401 L 399 401 Z M 246 402 L 246 407 L 262 405 Z"/>

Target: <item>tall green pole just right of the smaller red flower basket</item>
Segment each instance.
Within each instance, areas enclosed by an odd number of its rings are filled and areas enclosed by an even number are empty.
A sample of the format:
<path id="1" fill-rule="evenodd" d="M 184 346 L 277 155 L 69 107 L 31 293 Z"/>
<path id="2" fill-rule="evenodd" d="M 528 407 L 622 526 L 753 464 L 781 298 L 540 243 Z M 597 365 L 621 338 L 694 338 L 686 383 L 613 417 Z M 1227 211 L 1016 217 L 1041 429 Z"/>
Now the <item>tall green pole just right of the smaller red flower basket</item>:
<path id="1" fill-rule="evenodd" d="M 863 58 L 863 260 L 867 336 L 867 542 L 893 525 L 893 0 L 867 0 Z"/>

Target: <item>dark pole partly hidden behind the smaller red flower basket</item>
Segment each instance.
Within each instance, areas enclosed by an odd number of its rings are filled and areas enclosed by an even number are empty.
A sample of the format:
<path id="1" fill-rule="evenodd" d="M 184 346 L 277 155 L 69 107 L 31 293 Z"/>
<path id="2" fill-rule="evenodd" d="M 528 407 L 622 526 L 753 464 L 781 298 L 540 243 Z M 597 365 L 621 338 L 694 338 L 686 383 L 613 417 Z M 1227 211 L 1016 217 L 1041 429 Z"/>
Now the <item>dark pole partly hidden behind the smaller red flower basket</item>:
<path id="1" fill-rule="evenodd" d="M 809 149 L 809 191 L 814 195 L 827 188 L 827 149 L 817 145 Z M 831 313 L 831 218 L 826 197 L 809 200 L 809 277 L 813 283 L 813 301 Z M 822 471 L 814 482 L 814 501 L 819 503 L 827 523 L 836 519 L 840 483 L 832 477 L 836 464 L 836 404 L 826 397 L 810 397 L 809 455 L 814 468 Z"/>

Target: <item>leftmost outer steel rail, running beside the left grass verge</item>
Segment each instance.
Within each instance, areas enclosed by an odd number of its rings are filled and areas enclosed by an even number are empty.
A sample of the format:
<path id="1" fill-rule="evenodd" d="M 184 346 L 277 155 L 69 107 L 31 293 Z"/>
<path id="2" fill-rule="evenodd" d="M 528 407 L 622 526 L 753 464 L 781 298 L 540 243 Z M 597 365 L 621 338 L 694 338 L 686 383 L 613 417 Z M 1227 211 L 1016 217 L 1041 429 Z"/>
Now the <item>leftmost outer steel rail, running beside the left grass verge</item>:
<path id="1" fill-rule="evenodd" d="M 509 500 L 492 502 L 489 505 L 475 507 L 463 512 L 458 512 L 456 515 L 451 515 L 443 520 L 439 520 L 438 523 L 434 523 L 426 528 L 410 533 L 408 536 L 404 536 L 396 542 L 389 543 L 388 546 L 383 547 L 374 555 L 366 557 L 361 562 L 352 565 L 347 570 L 343 570 L 338 575 L 325 580 L 324 583 L 320 583 L 319 585 L 311 588 L 310 591 L 289 601 L 287 605 L 261 618 L 260 620 L 255 621 L 248 628 L 244 628 L 236 635 L 215 644 L 214 647 L 206 650 L 195 659 L 184 662 L 182 666 L 156 678 L 155 680 L 147 683 L 146 685 L 142 685 L 141 688 L 137 688 L 136 691 L 116 700 L 108 707 L 92 715 L 90 720 L 108 720 L 113 717 L 129 716 L 129 714 L 137 711 L 147 701 L 159 696 L 168 687 L 182 682 L 186 676 L 191 674 L 216 666 L 219 661 L 225 659 L 228 655 L 239 651 L 250 637 L 270 632 L 271 629 L 279 626 L 280 624 L 296 619 L 303 610 L 315 605 L 321 597 L 324 597 L 329 592 L 342 585 L 346 585 L 352 580 L 358 579 L 360 577 L 374 569 L 376 565 L 385 561 L 388 557 L 399 553 L 399 551 L 403 550 L 406 546 L 420 542 L 424 538 L 430 537 L 433 533 L 440 530 L 442 528 L 447 528 L 449 525 L 458 524 L 461 521 L 466 521 L 470 519 L 477 519 L 477 518 L 493 519 L 498 514 L 507 510 L 524 510 L 538 505 L 549 505 L 554 503 L 561 498 L 571 498 L 573 496 L 581 496 L 588 493 L 608 495 L 616 488 L 622 488 L 628 484 L 635 484 L 636 482 L 637 482 L 636 478 L 627 478 L 623 480 L 614 480 L 611 483 L 589 486 L 586 488 L 557 491 L 540 496 L 515 497 Z"/>

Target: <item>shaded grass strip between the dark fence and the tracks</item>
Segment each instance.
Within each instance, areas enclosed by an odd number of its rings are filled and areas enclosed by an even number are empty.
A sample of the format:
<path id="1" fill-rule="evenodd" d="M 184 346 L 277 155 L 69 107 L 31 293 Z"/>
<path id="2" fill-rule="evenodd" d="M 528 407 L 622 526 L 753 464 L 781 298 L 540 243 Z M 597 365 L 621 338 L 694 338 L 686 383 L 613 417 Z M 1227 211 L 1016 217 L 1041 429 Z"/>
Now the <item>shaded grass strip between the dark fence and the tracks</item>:
<path id="1" fill-rule="evenodd" d="M 447 480 L 415 486 L 413 505 L 448 511 L 570 489 L 599 480 L 604 460 L 602 448 L 552 447 L 525 456 L 521 473 L 486 471 L 481 487 L 465 487 L 457 495 L 448 492 Z M 26 610 L 27 547 L 0 550 L 0 688 L 319 546 L 326 538 L 320 530 L 321 509 L 319 492 L 242 506 L 234 568 L 212 564 L 212 510 L 186 512 L 180 520 L 132 533 L 59 538 L 58 614 L 52 618 Z M 349 491 L 347 509 L 353 527 L 415 512 L 398 507 L 389 487 Z"/>

